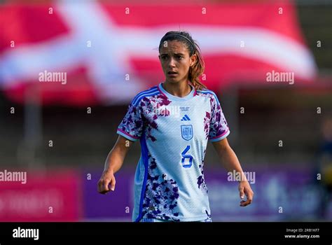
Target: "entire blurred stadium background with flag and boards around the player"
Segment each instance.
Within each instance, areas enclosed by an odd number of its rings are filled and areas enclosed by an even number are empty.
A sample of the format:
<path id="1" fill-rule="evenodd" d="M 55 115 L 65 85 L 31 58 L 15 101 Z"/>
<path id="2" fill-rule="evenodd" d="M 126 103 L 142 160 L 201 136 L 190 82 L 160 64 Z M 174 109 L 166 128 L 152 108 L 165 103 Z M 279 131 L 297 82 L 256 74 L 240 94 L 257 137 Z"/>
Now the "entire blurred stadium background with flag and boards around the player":
<path id="1" fill-rule="evenodd" d="M 230 125 L 228 141 L 254 202 L 209 144 L 205 172 L 214 221 L 331 221 L 332 2 L 0 1 L 0 221 L 130 221 L 140 147 L 97 193 L 130 99 L 162 81 L 158 43 L 189 31 Z M 67 82 L 41 82 L 62 72 Z M 294 83 L 268 82 L 271 71 Z"/>

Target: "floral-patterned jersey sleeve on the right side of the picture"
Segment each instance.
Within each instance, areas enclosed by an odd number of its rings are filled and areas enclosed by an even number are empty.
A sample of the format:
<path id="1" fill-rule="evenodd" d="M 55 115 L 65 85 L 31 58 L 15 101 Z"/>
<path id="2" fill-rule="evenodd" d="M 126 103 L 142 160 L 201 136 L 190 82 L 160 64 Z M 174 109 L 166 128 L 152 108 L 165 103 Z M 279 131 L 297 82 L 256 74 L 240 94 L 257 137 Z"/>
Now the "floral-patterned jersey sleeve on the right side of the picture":
<path id="1" fill-rule="evenodd" d="M 209 141 L 215 142 L 225 139 L 230 134 L 228 124 L 221 105 L 215 94 L 211 97 L 211 120 L 209 125 Z"/>

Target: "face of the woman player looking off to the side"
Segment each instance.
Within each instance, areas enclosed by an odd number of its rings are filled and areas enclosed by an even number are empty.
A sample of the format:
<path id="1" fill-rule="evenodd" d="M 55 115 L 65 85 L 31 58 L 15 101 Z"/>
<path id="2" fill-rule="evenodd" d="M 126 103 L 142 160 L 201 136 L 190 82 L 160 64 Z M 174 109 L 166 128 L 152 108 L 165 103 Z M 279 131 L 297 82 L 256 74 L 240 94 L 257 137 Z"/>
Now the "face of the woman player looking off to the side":
<path id="1" fill-rule="evenodd" d="M 167 44 L 167 45 L 166 45 Z M 189 57 L 188 48 L 181 41 L 167 41 L 160 48 L 158 56 L 166 82 L 179 83 L 188 80 L 188 71 L 195 64 L 196 55 Z"/>

